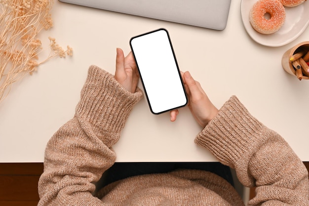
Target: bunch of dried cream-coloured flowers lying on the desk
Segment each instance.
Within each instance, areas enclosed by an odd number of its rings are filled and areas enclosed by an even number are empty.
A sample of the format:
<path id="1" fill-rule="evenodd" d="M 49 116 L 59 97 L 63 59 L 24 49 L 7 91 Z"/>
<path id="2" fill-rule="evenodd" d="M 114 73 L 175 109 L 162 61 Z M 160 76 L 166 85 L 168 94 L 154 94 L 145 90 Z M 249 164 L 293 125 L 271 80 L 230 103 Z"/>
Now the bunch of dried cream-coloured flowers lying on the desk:
<path id="1" fill-rule="evenodd" d="M 53 0 L 0 0 L 0 103 L 13 82 L 33 74 L 38 66 L 55 56 L 72 56 L 72 48 L 64 50 L 49 38 L 51 52 L 39 61 L 42 51 L 38 34 L 53 26 L 50 9 Z"/>

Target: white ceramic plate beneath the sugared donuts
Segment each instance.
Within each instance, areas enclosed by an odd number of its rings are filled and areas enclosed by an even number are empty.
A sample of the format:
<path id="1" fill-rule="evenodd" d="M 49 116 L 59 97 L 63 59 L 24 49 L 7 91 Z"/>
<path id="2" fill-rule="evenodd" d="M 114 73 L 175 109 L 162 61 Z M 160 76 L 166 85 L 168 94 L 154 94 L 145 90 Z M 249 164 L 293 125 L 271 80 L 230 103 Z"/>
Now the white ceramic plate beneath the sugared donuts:
<path id="1" fill-rule="evenodd" d="M 309 0 L 295 7 L 285 7 L 286 17 L 283 26 L 270 35 L 255 31 L 249 21 L 250 10 L 258 0 L 241 0 L 240 12 L 243 25 L 249 36 L 266 46 L 282 46 L 299 37 L 309 25 Z"/>

